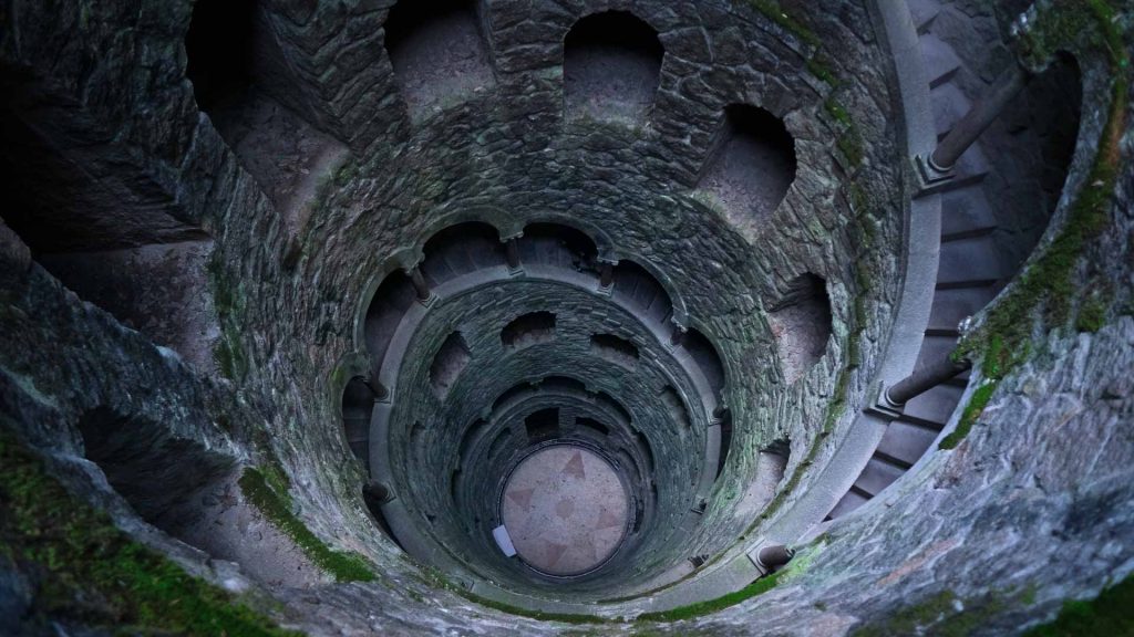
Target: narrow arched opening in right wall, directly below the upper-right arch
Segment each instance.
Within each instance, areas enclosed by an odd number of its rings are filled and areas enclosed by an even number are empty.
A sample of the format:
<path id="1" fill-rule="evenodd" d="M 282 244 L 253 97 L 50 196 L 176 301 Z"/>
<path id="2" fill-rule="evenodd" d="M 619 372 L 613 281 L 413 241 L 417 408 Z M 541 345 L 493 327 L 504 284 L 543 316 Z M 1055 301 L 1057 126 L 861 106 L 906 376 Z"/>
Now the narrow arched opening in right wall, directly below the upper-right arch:
<path id="1" fill-rule="evenodd" d="M 831 337 L 831 300 L 827 282 L 812 273 L 801 274 L 768 312 L 784 379 L 794 383 L 827 351 Z"/>

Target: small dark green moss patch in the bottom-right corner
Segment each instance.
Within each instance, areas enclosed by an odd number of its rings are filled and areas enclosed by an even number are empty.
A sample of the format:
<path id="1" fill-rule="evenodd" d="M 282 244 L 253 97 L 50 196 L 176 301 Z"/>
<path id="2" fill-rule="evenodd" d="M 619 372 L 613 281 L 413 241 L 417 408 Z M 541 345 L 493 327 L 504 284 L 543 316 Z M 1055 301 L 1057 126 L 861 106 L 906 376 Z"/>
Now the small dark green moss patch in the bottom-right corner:
<path id="1" fill-rule="evenodd" d="M 1110 637 L 1134 635 L 1134 577 L 1105 588 L 1094 600 L 1064 602 L 1059 617 L 1038 626 L 1025 637 Z"/>

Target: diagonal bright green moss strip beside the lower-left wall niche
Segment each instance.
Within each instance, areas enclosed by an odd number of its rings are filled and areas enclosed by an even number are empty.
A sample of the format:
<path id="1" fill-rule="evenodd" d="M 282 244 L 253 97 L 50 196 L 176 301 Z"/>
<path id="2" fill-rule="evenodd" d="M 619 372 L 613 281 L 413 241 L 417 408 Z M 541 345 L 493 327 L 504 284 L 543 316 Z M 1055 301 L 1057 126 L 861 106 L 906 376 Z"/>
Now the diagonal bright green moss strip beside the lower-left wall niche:
<path id="1" fill-rule="evenodd" d="M 272 473 L 269 470 L 269 474 Z M 277 484 L 277 489 L 280 486 L 279 478 L 280 476 L 270 478 Z M 311 529 L 304 526 L 299 518 L 291 512 L 286 494 L 281 495 L 270 486 L 270 479 L 262 470 L 249 467 L 240 475 L 240 490 L 264 517 L 290 537 L 312 562 L 331 574 L 336 580 L 372 581 L 374 579 L 374 572 L 361 555 L 332 551 L 315 537 L 315 534 L 311 533 Z M 286 478 L 282 479 L 286 481 Z"/>

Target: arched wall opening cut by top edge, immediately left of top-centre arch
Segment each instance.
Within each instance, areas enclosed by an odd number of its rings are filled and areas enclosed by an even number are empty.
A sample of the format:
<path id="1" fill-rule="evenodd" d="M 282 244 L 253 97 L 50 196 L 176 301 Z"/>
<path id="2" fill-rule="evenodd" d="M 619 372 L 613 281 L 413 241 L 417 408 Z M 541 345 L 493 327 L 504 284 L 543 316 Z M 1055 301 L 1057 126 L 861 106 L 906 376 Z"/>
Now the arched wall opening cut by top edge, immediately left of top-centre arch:
<path id="1" fill-rule="evenodd" d="M 496 85 L 479 8 L 472 0 L 401 0 L 390 10 L 386 50 L 412 120 Z"/>

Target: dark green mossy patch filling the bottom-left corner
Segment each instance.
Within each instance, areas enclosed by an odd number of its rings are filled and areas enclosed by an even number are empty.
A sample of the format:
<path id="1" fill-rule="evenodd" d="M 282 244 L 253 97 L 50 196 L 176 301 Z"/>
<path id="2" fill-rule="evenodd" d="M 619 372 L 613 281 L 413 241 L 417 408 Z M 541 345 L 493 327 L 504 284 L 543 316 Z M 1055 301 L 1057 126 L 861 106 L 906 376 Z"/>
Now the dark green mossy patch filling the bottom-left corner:
<path id="1" fill-rule="evenodd" d="M 296 635 L 130 540 L 2 432 L 0 466 L 0 561 L 32 583 L 34 617 L 122 634 Z"/>

